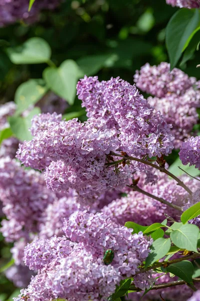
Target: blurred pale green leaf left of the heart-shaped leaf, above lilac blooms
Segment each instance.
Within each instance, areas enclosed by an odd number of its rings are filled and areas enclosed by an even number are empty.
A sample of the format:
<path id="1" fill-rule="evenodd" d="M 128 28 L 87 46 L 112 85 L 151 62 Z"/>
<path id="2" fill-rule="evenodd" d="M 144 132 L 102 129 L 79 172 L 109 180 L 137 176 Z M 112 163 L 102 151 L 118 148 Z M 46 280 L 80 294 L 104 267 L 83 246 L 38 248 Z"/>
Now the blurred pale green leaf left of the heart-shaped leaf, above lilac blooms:
<path id="1" fill-rule="evenodd" d="M 15 115 L 21 114 L 30 105 L 34 105 L 46 93 L 47 87 L 43 79 L 29 79 L 16 90 L 14 101 L 17 104 Z"/>

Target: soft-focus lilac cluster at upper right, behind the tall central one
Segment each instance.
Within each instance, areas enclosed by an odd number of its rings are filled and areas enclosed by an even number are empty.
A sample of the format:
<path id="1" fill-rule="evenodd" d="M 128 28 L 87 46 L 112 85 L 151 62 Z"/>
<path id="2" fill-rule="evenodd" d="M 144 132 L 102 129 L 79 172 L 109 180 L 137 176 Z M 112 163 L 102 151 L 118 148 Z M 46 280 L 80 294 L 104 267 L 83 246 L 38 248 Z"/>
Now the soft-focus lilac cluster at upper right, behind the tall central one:
<path id="1" fill-rule="evenodd" d="M 136 71 L 136 86 L 155 97 L 148 97 L 149 103 L 160 111 L 167 123 L 172 124 L 175 148 L 190 136 L 198 120 L 196 107 L 200 106 L 199 82 L 162 62 L 158 66 L 148 63 Z"/>

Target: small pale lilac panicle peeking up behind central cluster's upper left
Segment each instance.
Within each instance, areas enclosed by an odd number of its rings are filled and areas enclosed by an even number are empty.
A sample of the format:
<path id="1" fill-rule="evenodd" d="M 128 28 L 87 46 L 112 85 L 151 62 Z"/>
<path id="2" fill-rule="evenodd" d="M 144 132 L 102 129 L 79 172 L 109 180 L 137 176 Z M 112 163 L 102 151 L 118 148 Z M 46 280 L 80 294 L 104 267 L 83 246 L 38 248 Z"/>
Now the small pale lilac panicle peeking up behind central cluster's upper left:
<path id="1" fill-rule="evenodd" d="M 35 135 L 40 130 L 47 130 L 55 122 L 59 123 L 62 115 L 55 112 L 35 115 L 31 120 L 30 132 Z"/>

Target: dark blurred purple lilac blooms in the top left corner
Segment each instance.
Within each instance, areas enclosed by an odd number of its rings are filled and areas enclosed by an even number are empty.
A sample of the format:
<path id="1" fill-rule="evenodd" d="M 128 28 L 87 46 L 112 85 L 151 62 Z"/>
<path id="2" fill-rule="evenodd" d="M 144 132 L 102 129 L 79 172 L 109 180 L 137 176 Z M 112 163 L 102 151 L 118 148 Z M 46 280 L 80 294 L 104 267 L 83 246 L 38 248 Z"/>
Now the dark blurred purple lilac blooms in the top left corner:
<path id="1" fill-rule="evenodd" d="M 33 23 L 38 20 L 41 10 L 53 10 L 60 3 L 60 0 L 36 0 L 28 12 L 28 0 L 0 0 L 0 27 L 20 20 Z"/>

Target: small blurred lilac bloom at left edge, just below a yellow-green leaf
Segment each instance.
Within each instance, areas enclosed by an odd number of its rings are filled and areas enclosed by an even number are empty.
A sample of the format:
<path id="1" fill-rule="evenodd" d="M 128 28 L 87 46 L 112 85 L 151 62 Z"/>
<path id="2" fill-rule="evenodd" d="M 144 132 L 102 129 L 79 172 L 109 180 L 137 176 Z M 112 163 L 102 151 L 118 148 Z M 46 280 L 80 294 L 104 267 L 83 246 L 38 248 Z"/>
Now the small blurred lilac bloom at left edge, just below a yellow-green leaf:
<path id="1" fill-rule="evenodd" d="M 19 140 L 15 137 L 4 139 L 0 144 L 0 158 L 9 157 L 14 159 L 18 149 Z"/>

